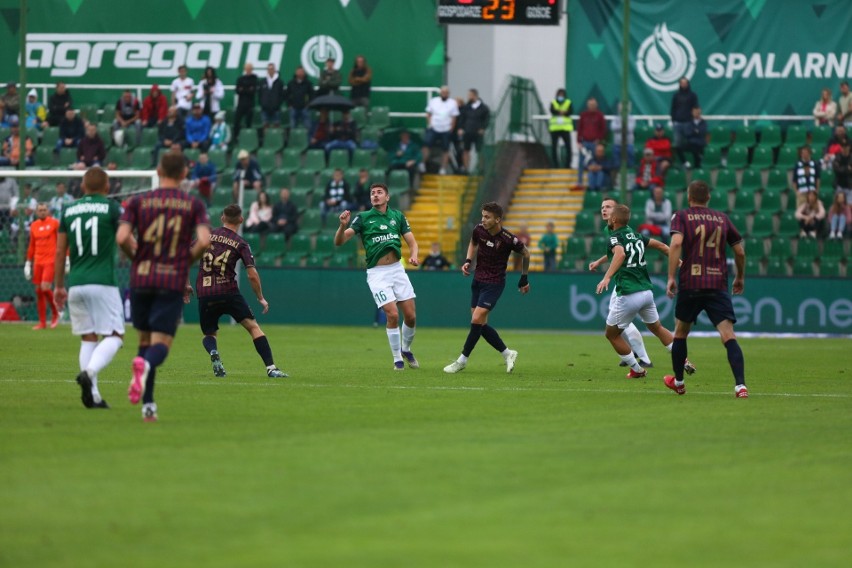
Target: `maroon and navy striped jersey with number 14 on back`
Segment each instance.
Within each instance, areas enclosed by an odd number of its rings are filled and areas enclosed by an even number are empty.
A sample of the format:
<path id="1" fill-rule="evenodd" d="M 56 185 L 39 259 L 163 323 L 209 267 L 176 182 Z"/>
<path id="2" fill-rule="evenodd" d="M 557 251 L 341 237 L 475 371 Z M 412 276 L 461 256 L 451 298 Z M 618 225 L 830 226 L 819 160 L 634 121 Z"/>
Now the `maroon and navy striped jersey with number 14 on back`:
<path id="1" fill-rule="evenodd" d="M 674 214 L 671 231 L 683 235 L 680 289 L 727 290 L 725 245 L 743 240 L 728 216 L 707 207 L 690 207 Z"/>

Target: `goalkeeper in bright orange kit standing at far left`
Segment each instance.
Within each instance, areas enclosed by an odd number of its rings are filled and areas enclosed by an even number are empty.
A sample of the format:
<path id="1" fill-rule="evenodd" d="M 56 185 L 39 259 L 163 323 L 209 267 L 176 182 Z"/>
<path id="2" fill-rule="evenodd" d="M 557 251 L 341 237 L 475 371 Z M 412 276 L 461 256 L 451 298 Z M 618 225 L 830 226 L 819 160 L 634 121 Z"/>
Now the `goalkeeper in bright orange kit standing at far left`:
<path id="1" fill-rule="evenodd" d="M 36 208 L 36 220 L 30 224 L 30 246 L 27 249 L 27 262 L 24 264 L 24 276 L 27 280 L 32 280 L 36 288 L 38 325 L 33 329 L 47 327 L 47 304 L 50 304 L 53 314 L 50 327 L 54 328 L 59 324 L 59 309 L 53 299 L 53 290 L 50 289 L 53 284 L 58 231 L 59 221 L 50 216 L 46 203 L 39 203 Z"/>

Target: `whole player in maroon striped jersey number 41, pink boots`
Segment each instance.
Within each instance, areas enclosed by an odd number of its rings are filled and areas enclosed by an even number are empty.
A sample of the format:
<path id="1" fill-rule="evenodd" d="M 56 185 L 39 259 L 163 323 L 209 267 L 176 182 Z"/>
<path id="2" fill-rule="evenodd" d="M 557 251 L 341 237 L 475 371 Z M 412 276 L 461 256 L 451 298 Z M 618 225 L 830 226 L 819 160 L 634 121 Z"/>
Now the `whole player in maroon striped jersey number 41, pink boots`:
<path id="1" fill-rule="evenodd" d="M 139 332 L 139 352 L 133 359 L 127 395 L 131 404 L 142 398 L 146 422 L 157 420 L 154 379 L 183 314 L 189 266 L 210 245 L 204 204 L 180 189 L 187 174 L 183 156 L 164 154 L 157 174 L 160 187 L 130 200 L 116 233 L 118 246 L 133 259 L 130 308 L 133 327 Z"/>

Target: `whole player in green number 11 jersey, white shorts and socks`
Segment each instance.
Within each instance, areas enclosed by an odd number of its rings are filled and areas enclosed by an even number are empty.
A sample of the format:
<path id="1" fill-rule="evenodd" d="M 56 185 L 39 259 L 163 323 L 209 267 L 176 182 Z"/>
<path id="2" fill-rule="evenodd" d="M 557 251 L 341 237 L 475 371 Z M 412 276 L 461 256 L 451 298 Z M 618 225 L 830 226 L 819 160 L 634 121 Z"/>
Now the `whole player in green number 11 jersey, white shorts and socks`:
<path id="1" fill-rule="evenodd" d="M 98 373 L 124 343 L 124 306 L 115 281 L 115 232 L 121 211 L 107 193 L 106 172 L 90 168 L 83 176 L 83 197 L 62 211 L 56 242 L 54 295 L 60 309 L 68 301 L 71 333 L 82 340 L 77 384 L 86 408 L 109 408 L 98 391 Z M 68 291 L 66 255 L 71 259 Z"/>

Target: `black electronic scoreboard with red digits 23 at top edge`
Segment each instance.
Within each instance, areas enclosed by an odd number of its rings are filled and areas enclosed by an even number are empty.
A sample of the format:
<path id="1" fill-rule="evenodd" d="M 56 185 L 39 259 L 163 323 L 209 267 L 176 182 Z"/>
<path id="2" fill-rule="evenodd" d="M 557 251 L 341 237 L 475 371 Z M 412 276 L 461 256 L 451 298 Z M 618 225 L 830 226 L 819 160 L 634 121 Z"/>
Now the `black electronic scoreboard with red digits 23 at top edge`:
<path id="1" fill-rule="evenodd" d="M 438 0 L 440 24 L 559 25 L 559 0 Z"/>

